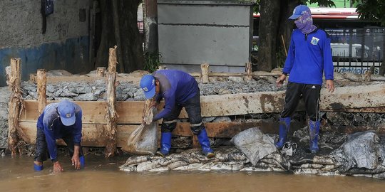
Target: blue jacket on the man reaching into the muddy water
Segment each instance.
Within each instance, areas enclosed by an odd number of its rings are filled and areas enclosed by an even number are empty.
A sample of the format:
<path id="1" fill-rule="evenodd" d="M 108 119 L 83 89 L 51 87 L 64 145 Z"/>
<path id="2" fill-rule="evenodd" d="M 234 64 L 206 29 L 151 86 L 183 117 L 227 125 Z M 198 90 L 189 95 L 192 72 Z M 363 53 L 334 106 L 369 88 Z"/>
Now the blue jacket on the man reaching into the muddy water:
<path id="1" fill-rule="evenodd" d="M 76 122 L 71 126 L 65 126 L 61 123 L 57 112 L 58 102 L 47 105 L 38 119 L 36 127 L 37 129 L 42 129 L 46 135 L 49 156 L 52 161 L 56 161 L 57 158 L 56 139 L 61 139 L 66 134 L 72 134 L 73 143 L 75 145 L 80 145 L 81 143 L 82 111 L 81 107 L 76 104 L 73 105 L 76 107 Z"/>

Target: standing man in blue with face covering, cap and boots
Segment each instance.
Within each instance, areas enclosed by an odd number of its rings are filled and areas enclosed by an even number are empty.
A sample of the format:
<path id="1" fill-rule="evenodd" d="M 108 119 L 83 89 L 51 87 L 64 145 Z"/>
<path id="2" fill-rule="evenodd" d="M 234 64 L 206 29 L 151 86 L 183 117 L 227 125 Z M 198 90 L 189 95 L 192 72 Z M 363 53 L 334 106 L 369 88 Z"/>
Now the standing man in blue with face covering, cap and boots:
<path id="1" fill-rule="evenodd" d="M 282 75 L 277 79 L 277 86 L 280 86 L 289 74 L 284 110 L 279 119 L 279 139 L 275 146 L 282 149 L 286 142 L 292 114 L 302 95 L 309 116 L 309 149 L 310 152 L 317 153 L 320 126 L 319 95 L 323 73 L 327 90 L 334 92 L 330 38 L 325 31 L 313 25 L 312 14 L 307 6 L 297 6 L 289 19 L 295 20 L 297 29 L 292 32 Z"/>

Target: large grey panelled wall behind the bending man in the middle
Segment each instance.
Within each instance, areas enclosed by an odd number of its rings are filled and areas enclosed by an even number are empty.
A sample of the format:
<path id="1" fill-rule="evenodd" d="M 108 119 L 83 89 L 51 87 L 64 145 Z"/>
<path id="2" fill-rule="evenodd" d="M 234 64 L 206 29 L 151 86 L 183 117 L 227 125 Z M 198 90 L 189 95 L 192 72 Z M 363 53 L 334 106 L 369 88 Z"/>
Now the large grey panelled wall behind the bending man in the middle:
<path id="1" fill-rule="evenodd" d="M 212 71 L 244 72 L 250 62 L 251 13 L 250 4 L 158 1 L 163 63 L 189 72 L 200 71 L 202 63 Z"/>

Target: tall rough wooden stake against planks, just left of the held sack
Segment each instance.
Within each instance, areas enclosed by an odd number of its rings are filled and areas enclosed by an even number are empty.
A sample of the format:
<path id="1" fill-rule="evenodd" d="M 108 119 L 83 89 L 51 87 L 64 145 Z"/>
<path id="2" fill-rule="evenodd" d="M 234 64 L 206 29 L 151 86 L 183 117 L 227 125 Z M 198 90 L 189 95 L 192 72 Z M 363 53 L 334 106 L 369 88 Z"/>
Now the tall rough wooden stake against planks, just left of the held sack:
<path id="1" fill-rule="evenodd" d="M 110 49 L 111 50 L 111 49 Z M 106 157 L 114 156 L 116 152 L 116 122 L 118 114 L 116 112 L 116 73 L 107 73 L 107 126 L 105 134 L 107 136 Z"/>

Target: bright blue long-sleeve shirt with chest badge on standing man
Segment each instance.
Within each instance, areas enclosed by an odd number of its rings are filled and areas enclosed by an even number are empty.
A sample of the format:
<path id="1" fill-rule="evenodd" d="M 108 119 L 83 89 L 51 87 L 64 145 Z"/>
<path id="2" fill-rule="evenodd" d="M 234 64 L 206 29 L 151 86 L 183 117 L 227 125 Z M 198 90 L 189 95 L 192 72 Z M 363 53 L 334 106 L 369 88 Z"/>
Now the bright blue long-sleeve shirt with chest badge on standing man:
<path id="1" fill-rule="evenodd" d="M 316 29 L 304 34 L 295 29 L 282 72 L 289 74 L 289 82 L 322 85 L 323 73 L 326 80 L 333 80 L 332 49 L 327 33 Z"/>

